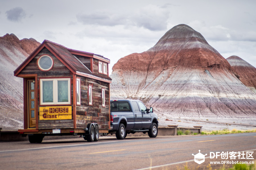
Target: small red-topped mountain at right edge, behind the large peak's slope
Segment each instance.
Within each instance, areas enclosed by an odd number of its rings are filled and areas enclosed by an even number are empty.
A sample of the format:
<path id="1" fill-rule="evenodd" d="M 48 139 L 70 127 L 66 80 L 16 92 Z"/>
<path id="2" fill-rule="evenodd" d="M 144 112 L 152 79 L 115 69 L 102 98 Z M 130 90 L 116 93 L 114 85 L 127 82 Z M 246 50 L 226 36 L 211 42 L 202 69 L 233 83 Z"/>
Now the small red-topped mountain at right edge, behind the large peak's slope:
<path id="1" fill-rule="evenodd" d="M 239 80 L 256 93 L 256 68 L 236 55 L 227 58 Z"/>

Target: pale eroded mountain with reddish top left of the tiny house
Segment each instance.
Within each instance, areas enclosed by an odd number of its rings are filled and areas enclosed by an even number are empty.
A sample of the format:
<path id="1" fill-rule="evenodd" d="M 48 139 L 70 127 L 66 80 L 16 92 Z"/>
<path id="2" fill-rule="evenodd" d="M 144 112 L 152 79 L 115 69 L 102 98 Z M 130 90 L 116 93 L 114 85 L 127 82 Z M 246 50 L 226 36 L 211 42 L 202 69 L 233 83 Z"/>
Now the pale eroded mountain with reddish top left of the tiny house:
<path id="1" fill-rule="evenodd" d="M 0 37 L 0 127 L 15 129 L 23 124 L 23 79 L 13 71 L 40 43 L 33 38 L 19 40 L 14 34 Z"/>

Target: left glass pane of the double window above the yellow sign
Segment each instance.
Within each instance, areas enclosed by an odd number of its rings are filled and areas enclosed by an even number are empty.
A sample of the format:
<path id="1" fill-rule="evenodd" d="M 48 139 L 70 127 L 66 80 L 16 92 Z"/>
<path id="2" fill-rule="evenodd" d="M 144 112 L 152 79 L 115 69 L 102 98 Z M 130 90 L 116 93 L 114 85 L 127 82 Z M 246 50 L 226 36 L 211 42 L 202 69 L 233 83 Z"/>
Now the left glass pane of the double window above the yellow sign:
<path id="1" fill-rule="evenodd" d="M 43 81 L 43 102 L 53 102 L 53 81 Z"/>

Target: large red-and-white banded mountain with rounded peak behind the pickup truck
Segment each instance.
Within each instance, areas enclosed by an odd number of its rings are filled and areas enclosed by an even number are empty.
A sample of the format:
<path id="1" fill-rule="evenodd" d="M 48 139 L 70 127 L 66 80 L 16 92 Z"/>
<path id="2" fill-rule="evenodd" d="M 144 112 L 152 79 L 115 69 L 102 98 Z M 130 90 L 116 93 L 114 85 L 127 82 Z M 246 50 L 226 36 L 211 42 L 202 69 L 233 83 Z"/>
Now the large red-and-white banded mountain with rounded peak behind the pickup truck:
<path id="1" fill-rule="evenodd" d="M 174 117 L 256 116 L 256 94 L 191 27 L 167 31 L 143 53 L 121 58 L 110 75 L 111 99 L 139 99 Z"/>

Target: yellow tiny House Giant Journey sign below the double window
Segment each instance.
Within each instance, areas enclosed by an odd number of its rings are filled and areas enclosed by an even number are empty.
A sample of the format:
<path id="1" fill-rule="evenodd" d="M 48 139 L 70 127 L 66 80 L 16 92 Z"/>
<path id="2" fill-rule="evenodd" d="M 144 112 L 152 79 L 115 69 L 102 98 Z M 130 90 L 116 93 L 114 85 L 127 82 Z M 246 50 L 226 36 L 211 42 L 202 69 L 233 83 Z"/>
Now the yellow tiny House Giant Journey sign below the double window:
<path id="1" fill-rule="evenodd" d="M 39 120 L 72 119 L 72 106 L 39 107 Z"/>

